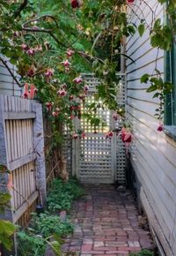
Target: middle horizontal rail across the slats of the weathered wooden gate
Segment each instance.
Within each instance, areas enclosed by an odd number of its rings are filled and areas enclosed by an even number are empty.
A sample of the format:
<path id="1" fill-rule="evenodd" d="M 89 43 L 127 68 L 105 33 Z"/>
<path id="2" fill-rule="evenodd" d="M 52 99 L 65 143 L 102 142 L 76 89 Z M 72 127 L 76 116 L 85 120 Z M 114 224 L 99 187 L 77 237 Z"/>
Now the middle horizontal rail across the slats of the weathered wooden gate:
<path id="1" fill-rule="evenodd" d="M 18 169 L 19 167 L 25 165 L 28 162 L 33 162 L 36 159 L 36 157 L 37 155 L 35 153 L 22 156 L 21 158 L 18 158 L 17 160 L 9 163 L 10 169 Z"/>

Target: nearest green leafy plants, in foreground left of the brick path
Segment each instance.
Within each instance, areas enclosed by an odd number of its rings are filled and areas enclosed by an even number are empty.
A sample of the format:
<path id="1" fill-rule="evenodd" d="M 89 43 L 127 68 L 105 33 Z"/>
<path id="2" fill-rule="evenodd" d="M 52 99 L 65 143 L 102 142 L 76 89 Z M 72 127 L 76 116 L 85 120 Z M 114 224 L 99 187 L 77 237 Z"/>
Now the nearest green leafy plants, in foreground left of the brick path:
<path id="1" fill-rule="evenodd" d="M 47 245 L 55 255 L 62 255 L 62 238 L 73 231 L 73 225 L 66 217 L 62 220 L 59 216 L 33 214 L 31 227 L 18 232 L 19 256 L 44 256 Z"/>

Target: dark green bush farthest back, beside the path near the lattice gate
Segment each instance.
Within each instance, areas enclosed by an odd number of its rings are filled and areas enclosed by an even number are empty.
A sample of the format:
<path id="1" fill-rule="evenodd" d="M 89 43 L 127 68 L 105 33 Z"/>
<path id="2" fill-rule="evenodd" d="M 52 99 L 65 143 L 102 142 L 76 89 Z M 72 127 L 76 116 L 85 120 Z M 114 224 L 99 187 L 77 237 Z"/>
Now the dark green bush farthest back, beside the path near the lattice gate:
<path id="1" fill-rule="evenodd" d="M 84 195 L 83 188 L 78 184 L 77 179 L 70 178 L 68 183 L 61 179 L 55 179 L 48 192 L 48 210 L 69 211 L 74 200 Z"/>

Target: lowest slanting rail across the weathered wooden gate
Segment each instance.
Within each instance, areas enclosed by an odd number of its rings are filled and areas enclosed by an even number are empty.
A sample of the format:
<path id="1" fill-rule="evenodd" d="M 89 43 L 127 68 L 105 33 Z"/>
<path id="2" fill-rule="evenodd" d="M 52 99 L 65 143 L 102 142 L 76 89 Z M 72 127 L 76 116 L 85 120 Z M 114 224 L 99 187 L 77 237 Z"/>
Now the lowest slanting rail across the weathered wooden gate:
<path id="1" fill-rule="evenodd" d="M 18 210 L 13 215 L 13 222 L 16 223 L 18 219 L 21 217 L 21 215 L 25 214 L 28 207 L 30 207 L 33 202 L 38 198 L 39 192 L 33 192 L 33 194 L 30 196 L 30 198 L 27 200 L 27 202 L 23 203 L 21 207 L 18 208 Z"/>

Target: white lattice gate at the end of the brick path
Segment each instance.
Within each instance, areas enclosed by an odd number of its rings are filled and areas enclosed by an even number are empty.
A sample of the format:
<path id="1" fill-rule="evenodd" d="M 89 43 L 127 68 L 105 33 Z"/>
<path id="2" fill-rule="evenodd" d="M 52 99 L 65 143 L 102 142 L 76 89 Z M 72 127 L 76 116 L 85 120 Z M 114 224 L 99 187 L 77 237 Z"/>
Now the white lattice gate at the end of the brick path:
<path id="1" fill-rule="evenodd" d="M 99 128 L 95 129 L 86 118 L 81 118 L 80 122 L 76 120 L 76 130 L 84 130 L 85 138 L 72 141 L 72 172 L 84 183 L 113 184 L 117 180 L 118 183 L 124 184 L 126 181 L 125 149 L 116 132 L 121 128 L 120 124 L 113 120 L 113 113 L 95 99 L 99 80 L 91 74 L 84 75 L 84 80 L 89 86 L 89 94 L 84 104 L 90 105 L 96 102 L 96 105 L 99 105 L 99 108 L 96 108 L 96 116 L 104 121 L 104 125 L 100 124 Z M 124 107 L 125 79 L 123 75 L 117 88 L 118 102 L 120 101 L 121 107 Z M 83 103 L 82 114 L 84 115 Z M 106 132 L 109 130 L 114 131 L 114 136 L 106 139 Z"/>

